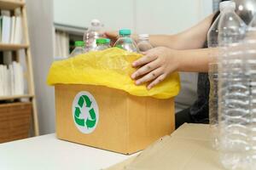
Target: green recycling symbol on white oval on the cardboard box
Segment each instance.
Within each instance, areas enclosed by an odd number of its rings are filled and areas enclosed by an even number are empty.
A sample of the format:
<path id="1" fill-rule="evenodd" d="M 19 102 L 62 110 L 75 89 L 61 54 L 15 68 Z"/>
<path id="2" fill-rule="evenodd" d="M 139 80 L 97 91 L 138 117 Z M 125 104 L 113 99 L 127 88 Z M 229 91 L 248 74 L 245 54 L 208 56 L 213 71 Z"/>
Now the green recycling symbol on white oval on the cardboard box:
<path id="1" fill-rule="evenodd" d="M 99 122 L 96 99 L 89 92 L 79 92 L 73 99 L 73 121 L 81 133 L 92 133 Z"/>

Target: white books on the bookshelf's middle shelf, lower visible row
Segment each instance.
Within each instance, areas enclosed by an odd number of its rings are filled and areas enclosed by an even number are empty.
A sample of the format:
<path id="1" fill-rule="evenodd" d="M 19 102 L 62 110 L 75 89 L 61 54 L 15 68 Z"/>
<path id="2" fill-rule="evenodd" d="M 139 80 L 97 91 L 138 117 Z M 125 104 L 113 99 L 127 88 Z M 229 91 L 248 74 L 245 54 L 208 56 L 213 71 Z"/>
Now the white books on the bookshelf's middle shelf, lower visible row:
<path id="1" fill-rule="evenodd" d="M 0 96 L 23 95 L 24 76 L 20 63 L 0 65 Z"/>

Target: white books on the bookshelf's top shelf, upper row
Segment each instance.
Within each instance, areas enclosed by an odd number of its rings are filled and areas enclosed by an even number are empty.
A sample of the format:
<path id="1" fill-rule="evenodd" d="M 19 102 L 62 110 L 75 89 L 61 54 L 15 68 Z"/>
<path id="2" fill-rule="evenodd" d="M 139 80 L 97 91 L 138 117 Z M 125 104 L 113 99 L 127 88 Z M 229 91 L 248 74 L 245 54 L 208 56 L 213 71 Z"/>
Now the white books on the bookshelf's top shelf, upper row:
<path id="1" fill-rule="evenodd" d="M 22 21 L 20 8 L 15 9 L 14 15 L 9 10 L 2 10 L 0 15 L 0 42 L 22 43 Z"/>

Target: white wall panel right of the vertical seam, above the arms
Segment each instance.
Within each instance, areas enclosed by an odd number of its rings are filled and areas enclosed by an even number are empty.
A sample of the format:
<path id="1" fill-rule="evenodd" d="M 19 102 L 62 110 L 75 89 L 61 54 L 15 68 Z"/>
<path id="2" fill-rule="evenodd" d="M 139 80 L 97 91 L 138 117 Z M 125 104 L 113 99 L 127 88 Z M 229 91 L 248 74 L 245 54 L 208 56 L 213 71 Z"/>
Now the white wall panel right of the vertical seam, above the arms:
<path id="1" fill-rule="evenodd" d="M 196 0 L 137 1 L 136 29 L 138 33 L 172 34 L 194 25 L 199 20 Z"/>

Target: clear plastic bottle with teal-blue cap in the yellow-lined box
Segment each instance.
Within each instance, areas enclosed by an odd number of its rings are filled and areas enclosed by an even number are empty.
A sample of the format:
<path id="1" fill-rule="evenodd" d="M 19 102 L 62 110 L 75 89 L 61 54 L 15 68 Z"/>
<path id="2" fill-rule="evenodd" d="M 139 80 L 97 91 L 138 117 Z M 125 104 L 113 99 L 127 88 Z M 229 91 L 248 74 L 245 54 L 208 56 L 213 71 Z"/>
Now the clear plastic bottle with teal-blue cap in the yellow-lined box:
<path id="1" fill-rule="evenodd" d="M 125 49 L 128 52 L 138 52 L 137 44 L 131 39 L 131 30 L 119 30 L 119 39 L 114 43 L 113 47 Z"/>

